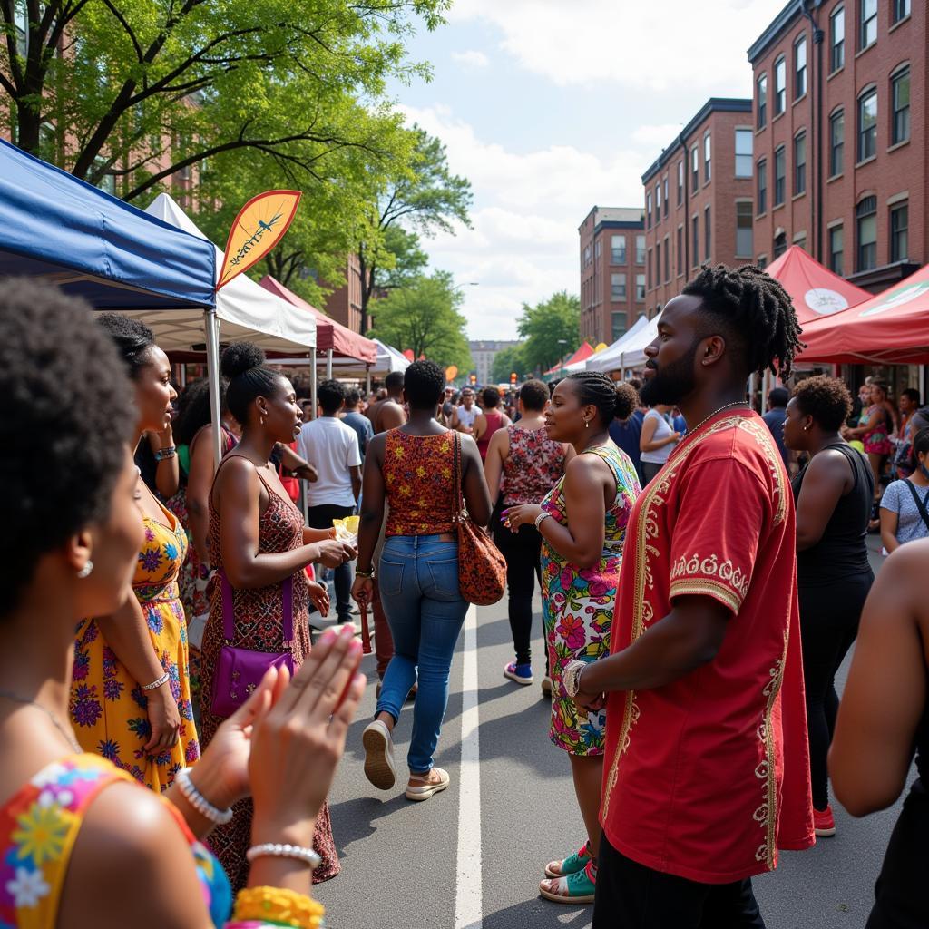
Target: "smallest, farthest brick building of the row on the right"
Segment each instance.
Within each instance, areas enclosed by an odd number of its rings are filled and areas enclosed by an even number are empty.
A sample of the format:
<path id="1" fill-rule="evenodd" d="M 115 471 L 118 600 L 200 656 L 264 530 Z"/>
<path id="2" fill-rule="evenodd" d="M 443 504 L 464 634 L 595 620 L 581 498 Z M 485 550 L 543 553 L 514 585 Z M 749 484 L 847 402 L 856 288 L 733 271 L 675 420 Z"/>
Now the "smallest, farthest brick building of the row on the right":
<path id="1" fill-rule="evenodd" d="M 581 237 L 581 338 L 615 342 L 645 310 L 641 207 L 595 206 Z"/>

